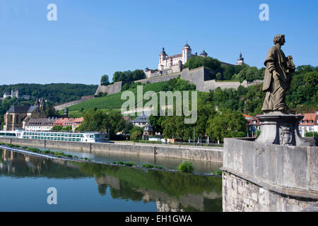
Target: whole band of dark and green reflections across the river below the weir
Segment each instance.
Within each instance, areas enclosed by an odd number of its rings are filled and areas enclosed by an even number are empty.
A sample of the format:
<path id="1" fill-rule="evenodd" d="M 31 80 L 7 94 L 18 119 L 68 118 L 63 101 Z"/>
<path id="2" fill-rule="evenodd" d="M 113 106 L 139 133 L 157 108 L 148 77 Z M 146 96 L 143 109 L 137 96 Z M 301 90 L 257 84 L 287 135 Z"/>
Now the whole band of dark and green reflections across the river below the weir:
<path id="1" fill-rule="evenodd" d="M 222 210 L 221 179 L 216 177 L 66 162 L 7 150 L 0 150 L 0 177 L 93 178 L 100 196 L 91 202 L 105 196 L 134 201 L 136 209 L 131 211 L 139 211 L 137 203 L 155 203 L 158 211 Z"/>

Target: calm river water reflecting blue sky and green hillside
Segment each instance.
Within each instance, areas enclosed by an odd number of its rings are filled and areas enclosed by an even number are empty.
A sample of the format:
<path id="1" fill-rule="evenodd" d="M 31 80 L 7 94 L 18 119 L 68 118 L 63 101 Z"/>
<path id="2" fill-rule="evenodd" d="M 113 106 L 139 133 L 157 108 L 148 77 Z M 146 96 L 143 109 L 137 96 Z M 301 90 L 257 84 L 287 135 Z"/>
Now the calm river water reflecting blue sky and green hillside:
<path id="1" fill-rule="evenodd" d="M 76 154 L 126 161 L 119 155 Z M 135 163 L 153 163 L 129 157 Z M 156 161 L 175 169 L 182 160 Z M 218 167 L 208 165 L 205 171 Z M 52 160 L 0 149 L 0 211 L 219 212 L 221 183 L 219 177 Z M 51 187 L 57 191 L 56 205 L 47 203 Z"/>

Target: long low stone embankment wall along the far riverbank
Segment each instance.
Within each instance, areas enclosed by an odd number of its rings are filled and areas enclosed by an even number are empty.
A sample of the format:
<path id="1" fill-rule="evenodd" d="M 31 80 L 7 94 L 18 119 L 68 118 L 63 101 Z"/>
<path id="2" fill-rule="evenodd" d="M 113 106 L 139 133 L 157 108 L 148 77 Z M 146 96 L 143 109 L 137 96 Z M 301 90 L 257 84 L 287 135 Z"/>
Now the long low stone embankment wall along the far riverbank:
<path id="1" fill-rule="evenodd" d="M 19 138 L 0 138 L 0 142 L 40 148 L 67 149 L 88 153 L 122 153 L 153 157 L 177 157 L 211 162 L 223 161 L 223 148 L 191 147 L 178 145 L 154 145 L 134 143 L 80 143 L 71 141 L 40 141 Z"/>

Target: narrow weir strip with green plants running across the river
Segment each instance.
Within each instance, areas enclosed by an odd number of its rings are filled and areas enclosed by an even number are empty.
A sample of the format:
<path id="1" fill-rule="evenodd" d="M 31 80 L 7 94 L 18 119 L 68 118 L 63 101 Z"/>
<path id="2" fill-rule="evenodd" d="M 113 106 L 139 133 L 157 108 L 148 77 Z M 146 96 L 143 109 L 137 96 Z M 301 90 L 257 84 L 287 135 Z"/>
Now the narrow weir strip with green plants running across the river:
<path id="1" fill-rule="evenodd" d="M 14 145 L 11 143 L 0 143 L 0 148 L 4 148 L 6 150 L 10 151 L 16 151 L 18 153 L 23 153 L 27 155 L 35 155 L 37 157 L 49 157 L 49 158 L 55 158 L 59 160 L 64 161 L 72 161 L 72 162 L 86 162 L 86 163 L 95 163 L 100 165 L 112 165 L 112 166 L 119 166 L 119 167 L 136 167 L 139 169 L 152 169 L 152 170 L 160 170 L 160 171 L 167 171 L 167 172 L 176 172 L 176 173 L 188 173 L 188 174 L 196 174 L 196 175 L 202 175 L 202 176 L 212 176 L 212 177 L 221 177 L 218 174 L 215 174 L 214 172 L 210 173 L 197 173 L 194 172 L 194 168 L 192 168 L 191 171 L 188 170 L 182 170 L 180 166 L 177 170 L 175 169 L 164 169 L 161 166 L 158 165 L 151 165 L 151 164 L 143 164 L 143 165 L 136 165 L 134 162 L 97 162 L 95 160 L 91 160 L 88 157 L 78 157 L 76 155 L 69 155 L 65 154 L 62 151 L 51 151 L 51 150 L 40 150 L 38 148 L 29 148 L 27 146 L 20 146 L 20 145 Z M 184 162 L 180 165 L 183 165 Z M 192 165 L 192 162 L 189 162 L 190 165 Z M 193 166 L 192 166 L 193 167 Z M 220 170 L 220 169 L 218 169 Z"/>

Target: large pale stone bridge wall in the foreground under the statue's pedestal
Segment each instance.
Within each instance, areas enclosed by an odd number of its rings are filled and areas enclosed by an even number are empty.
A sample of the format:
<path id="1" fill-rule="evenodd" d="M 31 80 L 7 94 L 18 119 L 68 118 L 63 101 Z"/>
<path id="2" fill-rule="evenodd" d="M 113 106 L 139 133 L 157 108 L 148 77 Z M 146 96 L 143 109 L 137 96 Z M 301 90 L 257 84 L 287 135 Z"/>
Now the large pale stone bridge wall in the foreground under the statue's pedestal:
<path id="1" fill-rule="evenodd" d="M 318 148 L 225 138 L 223 211 L 301 211 L 318 201 Z"/>

